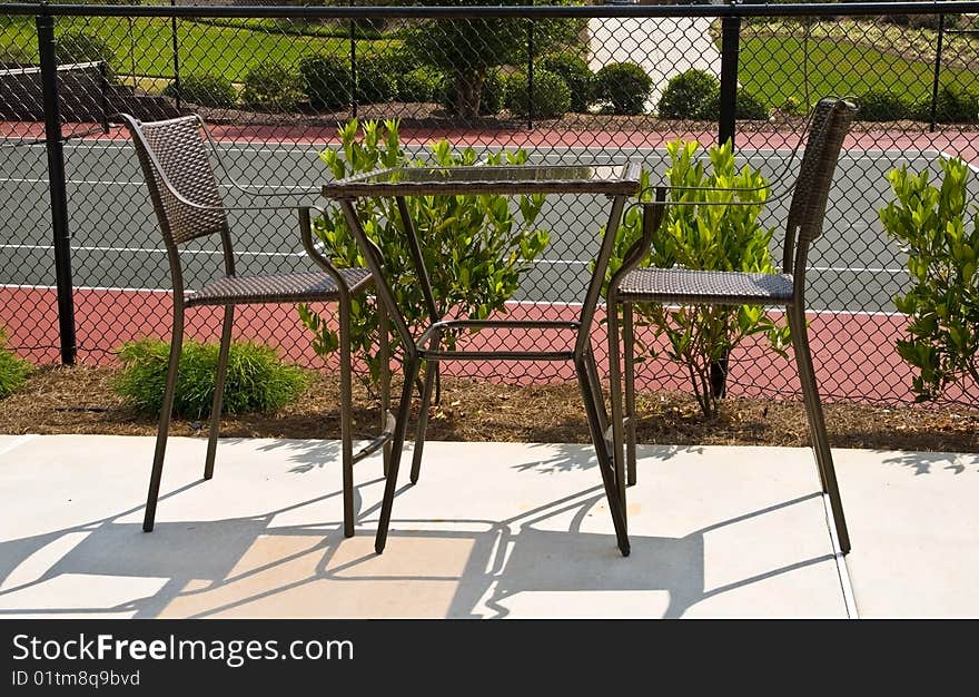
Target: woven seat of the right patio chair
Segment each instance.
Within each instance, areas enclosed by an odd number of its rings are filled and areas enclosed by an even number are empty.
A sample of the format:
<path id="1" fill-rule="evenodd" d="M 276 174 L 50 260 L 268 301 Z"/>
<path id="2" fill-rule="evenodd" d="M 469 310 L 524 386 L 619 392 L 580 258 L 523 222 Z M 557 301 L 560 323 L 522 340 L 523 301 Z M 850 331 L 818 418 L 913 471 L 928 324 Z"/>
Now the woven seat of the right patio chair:
<path id="1" fill-rule="evenodd" d="M 637 268 L 622 279 L 619 296 L 627 302 L 782 304 L 792 301 L 792 275 Z"/>

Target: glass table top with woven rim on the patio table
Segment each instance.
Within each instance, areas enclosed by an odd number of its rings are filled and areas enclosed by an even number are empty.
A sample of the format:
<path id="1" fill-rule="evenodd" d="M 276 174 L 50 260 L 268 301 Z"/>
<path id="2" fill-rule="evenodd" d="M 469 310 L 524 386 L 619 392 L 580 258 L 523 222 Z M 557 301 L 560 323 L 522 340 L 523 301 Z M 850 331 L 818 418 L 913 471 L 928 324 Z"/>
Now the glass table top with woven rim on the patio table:
<path id="1" fill-rule="evenodd" d="M 639 190 L 639 164 L 511 165 L 477 167 L 395 167 L 324 185 L 327 198 L 426 196 L 438 194 L 632 195 Z"/>

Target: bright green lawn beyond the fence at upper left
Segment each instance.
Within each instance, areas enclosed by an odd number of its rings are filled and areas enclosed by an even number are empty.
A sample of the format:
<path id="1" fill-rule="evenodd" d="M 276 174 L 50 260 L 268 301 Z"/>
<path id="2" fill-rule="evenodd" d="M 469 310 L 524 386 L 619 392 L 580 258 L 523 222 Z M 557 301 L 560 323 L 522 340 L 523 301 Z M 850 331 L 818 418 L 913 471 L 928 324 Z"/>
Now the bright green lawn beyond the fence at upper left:
<path id="1" fill-rule="evenodd" d="M 0 20 L 0 52 L 8 46 L 30 48 L 37 53 L 33 18 L 10 17 Z M 57 33 L 83 31 L 107 41 L 116 53 L 120 76 L 169 77 L 174 75 L 172 35 L 169 19 L 160 18 L 59 18 Z M 295 67 L 304 56 L 329 52 L 348 56 L 349 40 L 329 37 L 284 36 L 261 30 L 214 27 L 179 21 L 177 40 L 181 73 L 221 73 L 241 81 L 250 68 L 274 58 Z M 396 50 L 399 40 L 357 41 L 357 50 L 386 53 Z M 134 61 L 135 57 L 135 61 Z"/>

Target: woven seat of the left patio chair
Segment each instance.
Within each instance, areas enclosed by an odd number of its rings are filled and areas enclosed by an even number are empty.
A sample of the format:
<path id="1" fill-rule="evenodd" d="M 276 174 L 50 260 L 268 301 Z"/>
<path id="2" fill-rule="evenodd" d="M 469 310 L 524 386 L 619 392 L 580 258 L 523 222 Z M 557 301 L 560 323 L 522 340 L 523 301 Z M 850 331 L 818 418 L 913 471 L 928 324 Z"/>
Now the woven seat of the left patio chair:
<path id="1" fill-rule="evenodd" d="M 366 268 L 343 268 L 352 293 L 370 283 Z M 186 304 L 235 305 L 251 303 L 304 303 L 337 300 L 337 284 L 326 272 L 299 272 L 263 276 L 226 276 L 188 293 Z"/>

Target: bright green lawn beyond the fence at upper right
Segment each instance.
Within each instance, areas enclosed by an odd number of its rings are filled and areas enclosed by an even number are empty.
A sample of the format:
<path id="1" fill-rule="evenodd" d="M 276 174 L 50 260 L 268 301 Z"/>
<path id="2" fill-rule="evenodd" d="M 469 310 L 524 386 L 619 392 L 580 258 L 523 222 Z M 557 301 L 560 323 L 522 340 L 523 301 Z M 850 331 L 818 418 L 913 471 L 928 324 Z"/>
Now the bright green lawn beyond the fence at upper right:
<path id="1" fill-rule="evenodd" d="M 742 87 L 770 106 L 779 107 L 789 97 L 805 96 L 802 40 L 790 37 L 745 38 L 741 41 L 738 79 Z M 934 67 L 926 61 L 908 61 L 863 46 L 843 41 L 809 41 L 809 96 L 860 96 L 884 89 L 917 100 L 931 95 Z M 942 68 L 942 81 L 973 85 L 968 70 Z"/>

